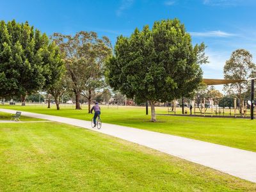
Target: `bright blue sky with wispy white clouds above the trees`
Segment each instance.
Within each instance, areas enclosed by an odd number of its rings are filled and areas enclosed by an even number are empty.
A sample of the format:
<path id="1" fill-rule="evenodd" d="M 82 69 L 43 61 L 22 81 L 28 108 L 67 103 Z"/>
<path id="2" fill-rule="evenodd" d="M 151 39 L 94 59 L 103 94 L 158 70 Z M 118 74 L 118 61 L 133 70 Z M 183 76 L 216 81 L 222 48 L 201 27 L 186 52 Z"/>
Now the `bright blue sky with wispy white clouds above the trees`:
<path id="1" fill-rule="evenodd" d="M 193 44 L 207 45 L 210 63 L 202 66 L 205 78 L 222 78 L 223 65 L 236 49 L 247 49 L 256 57 L 255 0 L 0 1 L 0 20 L 28 20 L 47 35 L 96 31 L 113 45 L 118 35 L 175 17 L 191 33 Z"/>

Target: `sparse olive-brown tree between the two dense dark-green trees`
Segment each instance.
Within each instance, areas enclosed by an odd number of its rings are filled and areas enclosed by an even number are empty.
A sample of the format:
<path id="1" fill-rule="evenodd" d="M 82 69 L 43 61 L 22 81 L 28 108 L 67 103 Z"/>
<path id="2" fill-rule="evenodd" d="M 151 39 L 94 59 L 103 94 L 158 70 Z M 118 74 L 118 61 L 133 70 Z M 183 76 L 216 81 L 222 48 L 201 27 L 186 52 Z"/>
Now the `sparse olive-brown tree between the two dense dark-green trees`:
<path id="1" fill-rule="evenodd" d="M 70 86 L 76 95 L 76 109 L 81 109 L 81 94 L 87 97 L 90 105 L 91 93 L 103 88 L 104 62 L 111 55 L 109 39 L 106 36 L 98 38 L 92 31 L 80 31 L 74 36 L 54 33 L 51 38 L 63 52 Z"/>

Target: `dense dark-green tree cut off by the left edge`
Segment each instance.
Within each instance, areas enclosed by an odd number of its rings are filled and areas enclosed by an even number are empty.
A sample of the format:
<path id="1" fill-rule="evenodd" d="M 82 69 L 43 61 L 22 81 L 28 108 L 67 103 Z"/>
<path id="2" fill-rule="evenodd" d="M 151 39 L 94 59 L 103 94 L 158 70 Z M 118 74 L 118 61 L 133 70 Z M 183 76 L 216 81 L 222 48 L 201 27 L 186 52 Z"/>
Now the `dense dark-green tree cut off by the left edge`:
<path id="1" fill-rule="evenodd" d="M 25 104 L 26 95 L 52 83 L 52 65 L 61 65 L 58 47 L 49 42 L 28 22 L 0 22 L 0 94 L 19 95 Z"/>

